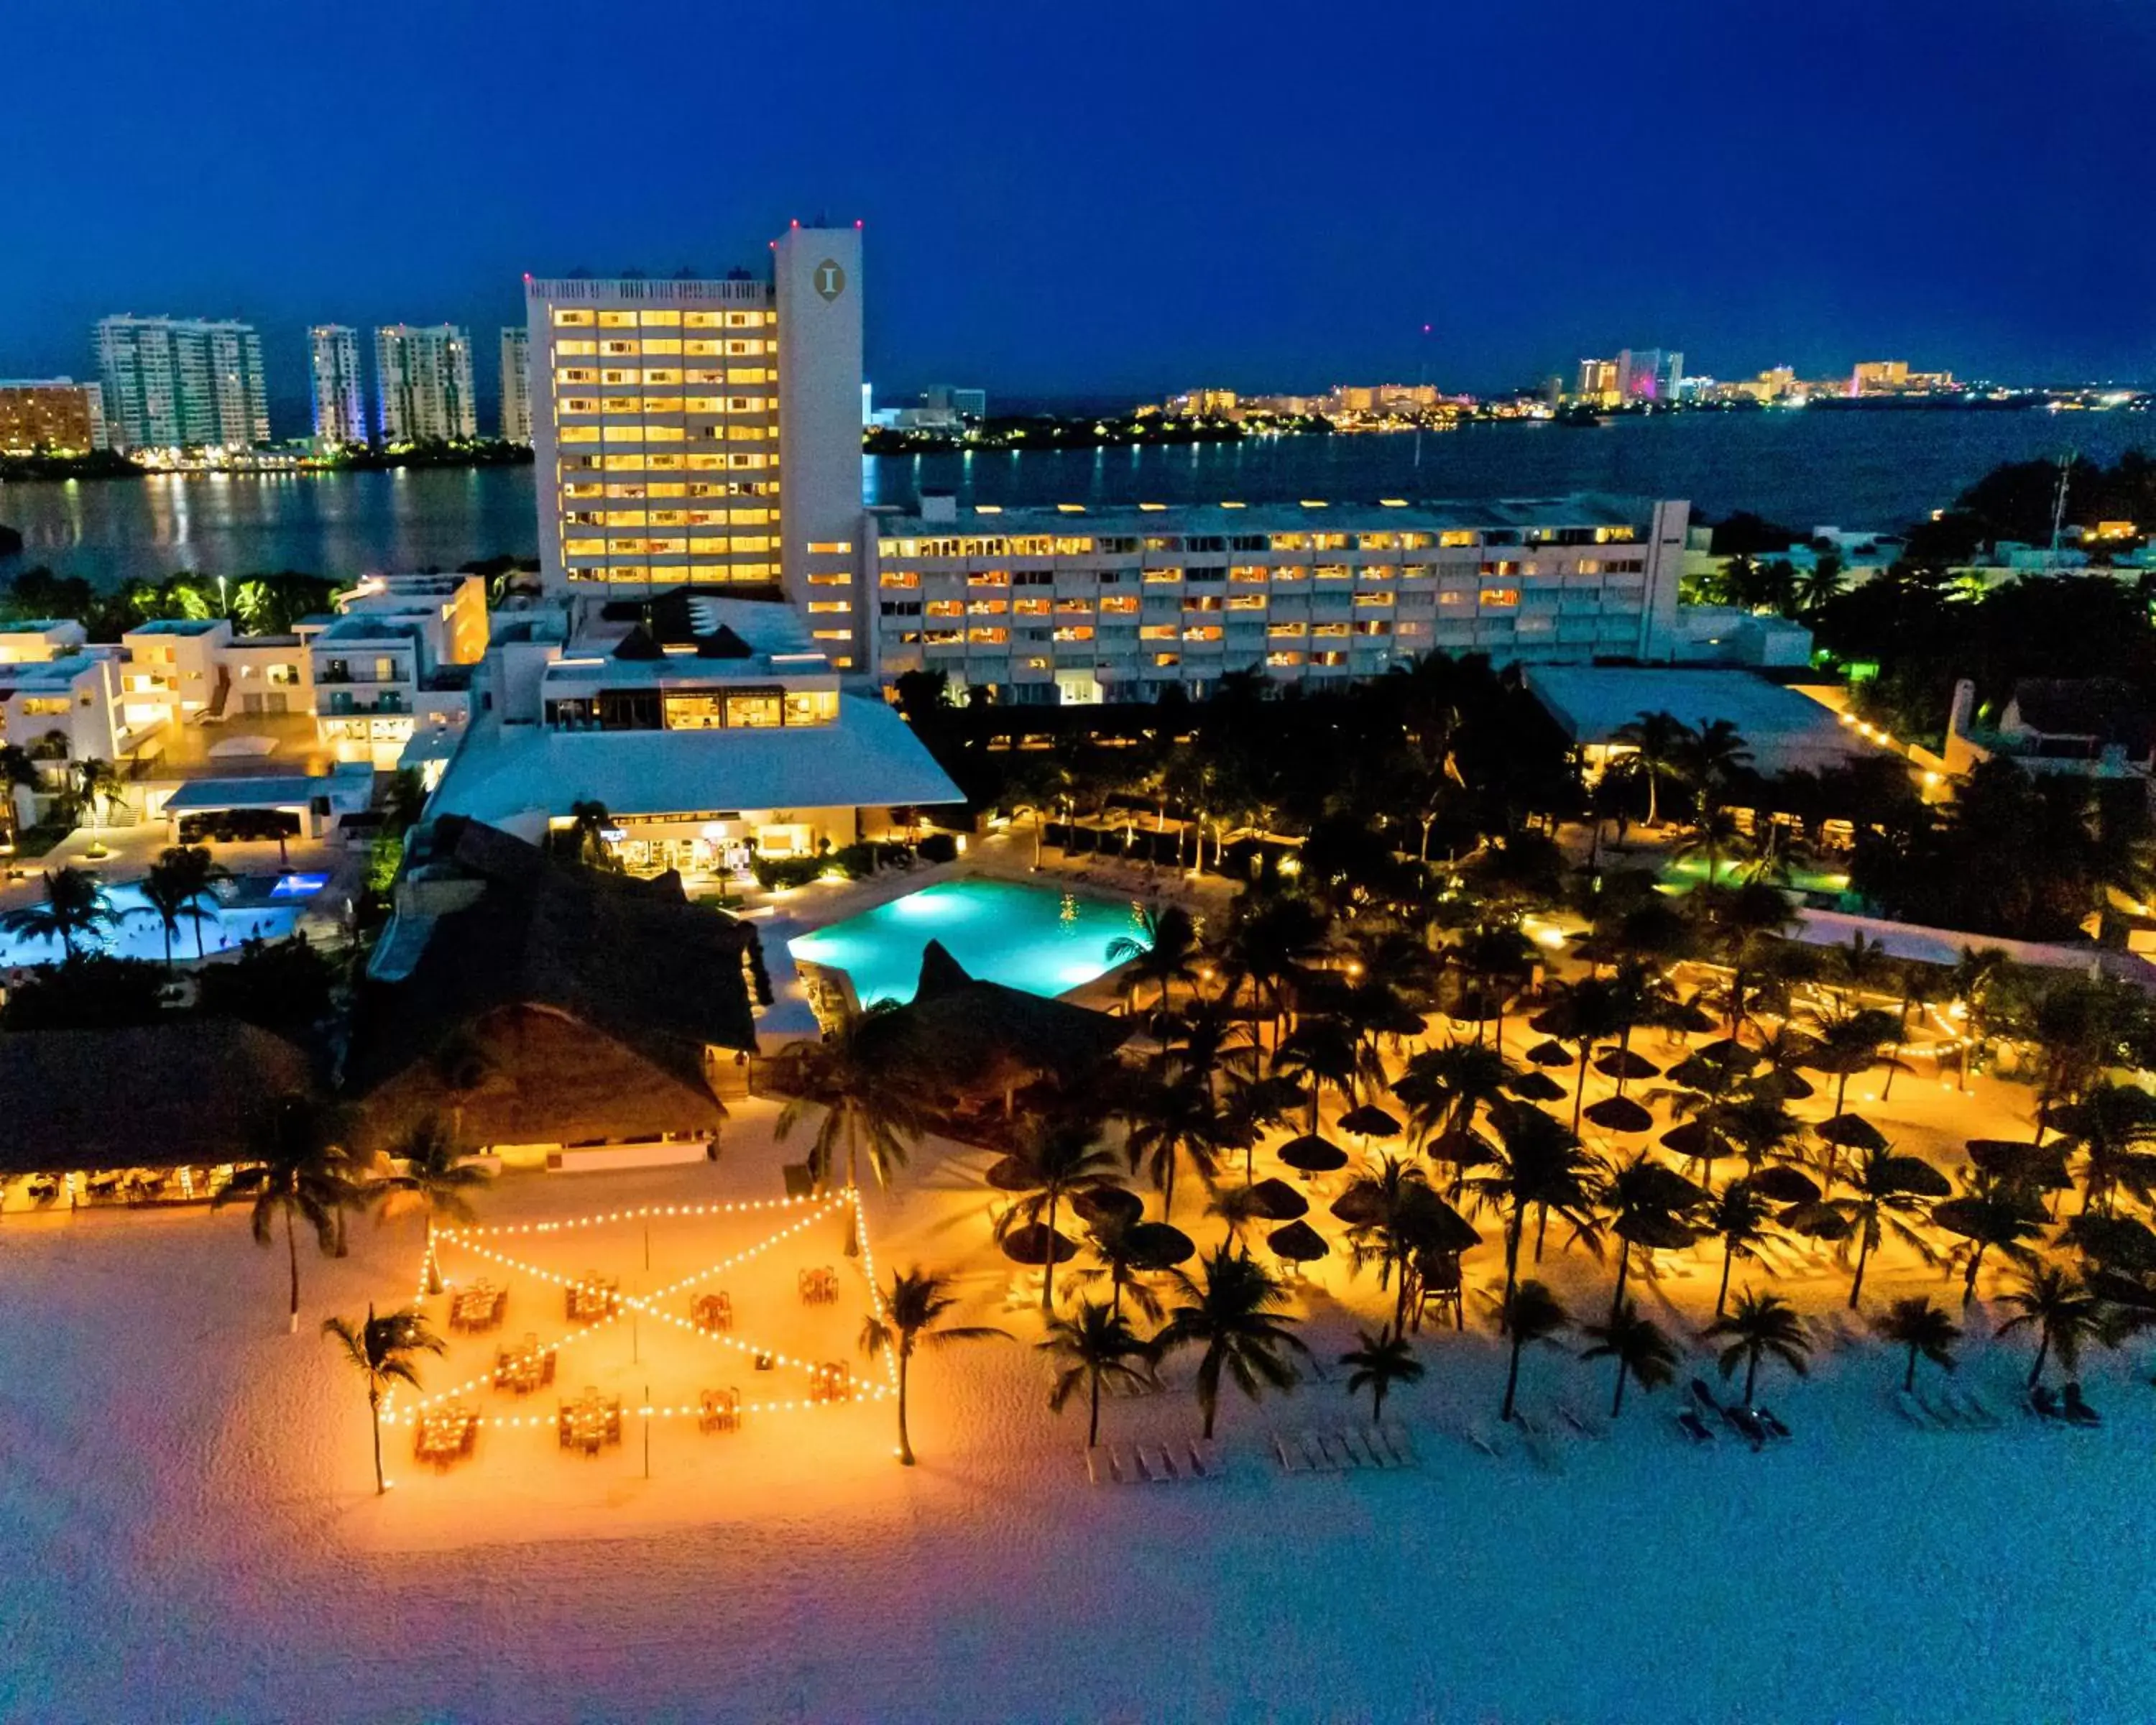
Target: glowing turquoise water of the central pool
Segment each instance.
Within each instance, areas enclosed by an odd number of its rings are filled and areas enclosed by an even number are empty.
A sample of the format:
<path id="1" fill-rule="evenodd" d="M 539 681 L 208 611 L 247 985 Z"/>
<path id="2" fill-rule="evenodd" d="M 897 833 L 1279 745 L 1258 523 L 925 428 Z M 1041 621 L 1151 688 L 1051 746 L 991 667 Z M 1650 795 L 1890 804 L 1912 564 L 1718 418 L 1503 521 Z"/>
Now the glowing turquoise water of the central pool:
<path id="1" fill-rule="evenodd" d="M 828 964 L 854 981 L 860 1005 L 912 1000 L 921 949 L 940 940 L 981 981 L 1026 994 L 1065 994 L 1110 970 L 1108 942 L 1136 934 L 1138 908 L 1084 899 L 1052 886 L 946 880 L 903 899 L 798 934 L 796 960 Z"/>

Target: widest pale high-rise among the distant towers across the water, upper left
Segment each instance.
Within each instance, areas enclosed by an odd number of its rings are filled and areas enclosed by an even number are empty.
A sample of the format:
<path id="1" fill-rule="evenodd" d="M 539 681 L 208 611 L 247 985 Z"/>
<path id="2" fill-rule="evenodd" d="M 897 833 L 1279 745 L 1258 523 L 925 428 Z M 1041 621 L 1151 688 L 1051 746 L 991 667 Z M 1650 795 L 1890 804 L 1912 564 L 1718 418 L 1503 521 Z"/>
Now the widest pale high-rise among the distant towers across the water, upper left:
<path id="1" fill-rule="evenodd" d="M 95 343 L 106 420 L 123 446 L 270 442 L 270 390 L 254 326 L 106 317 Z"/>

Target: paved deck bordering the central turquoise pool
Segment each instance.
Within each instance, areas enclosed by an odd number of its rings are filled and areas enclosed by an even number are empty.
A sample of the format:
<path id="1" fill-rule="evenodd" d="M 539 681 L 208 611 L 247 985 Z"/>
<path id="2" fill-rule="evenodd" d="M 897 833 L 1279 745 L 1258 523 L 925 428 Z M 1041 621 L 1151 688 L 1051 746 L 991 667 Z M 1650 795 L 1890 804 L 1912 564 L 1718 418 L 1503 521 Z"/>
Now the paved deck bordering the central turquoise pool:
<path id="1" fill-rule="evenodd" d="M 1145 899 L 1147 903 L 1179 903 L 1192 916 L 1210 925 L 1227 914 L 1229 899 L 1235 897 L 1231 882 L 1218 875 L 1192 878 L 1175 869 L 1147 873 L 1136 862 L 1104 862 L 1097 856 L 1065 858 L 1063 852 L 1044 847 L 1041 867 L 1033 869 L 1031 828 L 1005 828 L 985 832 L 968 841 L 966 854 L 955 862 L 916 865 L 912 869 L 884 869 L 869 880 L 813 882 L 789 893 L 750 893 L 742 914 L 755 925 L 763 940 L 763 966 L 772 975 L 772 1005 L 757 1016 L 757 1039 L 763 1052 L 783 1048 L 789 1041 L 817 1035 L 815 1013 L 808 1009 L 808 994 L 787 942 L 808 929 L 830 927 L 865 910 L 875 910 L 893 899 L 918 893 L 946 880 L 1003 880 L 1020 886 L 1052 886 L 1095 899 Z M 1082 1007 L 1110 1011 L 1121 1005 L 1117 977 L 1123 966 L 1106 970 L 1082 988 L 1074 988 L 1061 998 Z"/>

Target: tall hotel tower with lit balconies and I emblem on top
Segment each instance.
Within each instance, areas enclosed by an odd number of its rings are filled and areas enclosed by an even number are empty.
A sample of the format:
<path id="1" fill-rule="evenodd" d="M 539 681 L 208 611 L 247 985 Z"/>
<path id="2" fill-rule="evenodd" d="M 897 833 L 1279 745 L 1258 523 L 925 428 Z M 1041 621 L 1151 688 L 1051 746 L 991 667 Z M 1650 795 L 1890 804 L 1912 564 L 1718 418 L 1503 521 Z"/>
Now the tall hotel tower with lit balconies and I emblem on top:
<path id="1" fill-rule="evenodd" d="M 770 280 L 524 287 L 548 591 L 778 584 L 862 666 L 860 231 L 789 229 Z"/>

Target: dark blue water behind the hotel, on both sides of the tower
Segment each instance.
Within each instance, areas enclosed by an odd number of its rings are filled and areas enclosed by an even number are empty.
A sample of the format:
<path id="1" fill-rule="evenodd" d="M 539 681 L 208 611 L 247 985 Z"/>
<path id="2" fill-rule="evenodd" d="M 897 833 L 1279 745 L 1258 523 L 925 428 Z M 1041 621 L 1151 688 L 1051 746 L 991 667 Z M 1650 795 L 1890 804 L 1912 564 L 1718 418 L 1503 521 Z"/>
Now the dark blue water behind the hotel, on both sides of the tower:
<path id="1" fill-rule="evenodd" d="M 2156 448 L 2145 414 L 1779 412 L 1671 414 L 1600 429 L 1542 423 L 1358 438 L 1263 438 L 1069 453 L 869 457 L 869 502 L 923 489 L 966 502 L 1220 502 L 1490 498 L 1634 492 L 1798 528 L 1904 526 L 1999 461 Z M 99 582 L 175 569 L 453 569 L 533 556 L 530 468 L 194 474 L 0 483 L 0 522 L 24 535 L 0 576 L 32 565 Z"/>

